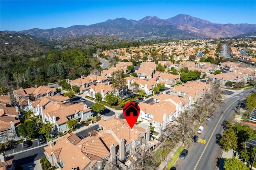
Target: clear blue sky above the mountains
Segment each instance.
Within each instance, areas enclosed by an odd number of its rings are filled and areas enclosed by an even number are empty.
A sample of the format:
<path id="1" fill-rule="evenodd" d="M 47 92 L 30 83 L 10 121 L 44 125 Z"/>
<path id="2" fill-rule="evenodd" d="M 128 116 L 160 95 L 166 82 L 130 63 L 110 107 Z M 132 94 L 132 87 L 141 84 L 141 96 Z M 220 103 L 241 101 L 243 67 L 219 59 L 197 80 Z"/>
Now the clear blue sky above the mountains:
<path id="1" fill-rule="evenodd" d="M 90 25 L 108 19 L 187 14 L 218 24 L 256 24 L 256 1 L 0 1 L 0 30 Z"/>

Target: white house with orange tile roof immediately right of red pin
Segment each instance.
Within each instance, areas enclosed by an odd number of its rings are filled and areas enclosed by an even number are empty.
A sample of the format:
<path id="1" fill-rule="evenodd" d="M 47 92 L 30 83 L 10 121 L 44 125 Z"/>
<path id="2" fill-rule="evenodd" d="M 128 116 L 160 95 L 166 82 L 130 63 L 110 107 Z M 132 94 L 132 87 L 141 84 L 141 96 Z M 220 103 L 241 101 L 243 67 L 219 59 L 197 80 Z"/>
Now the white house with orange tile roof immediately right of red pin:
<path id="1" fill-rule="evenodd" d="M 171 101 L 160 101 L 159 103 L 139 103 L 140 115 L 138 121 L 147 121 L 156 132 L 166 129 L 178 117 L 176 106 Z"/>

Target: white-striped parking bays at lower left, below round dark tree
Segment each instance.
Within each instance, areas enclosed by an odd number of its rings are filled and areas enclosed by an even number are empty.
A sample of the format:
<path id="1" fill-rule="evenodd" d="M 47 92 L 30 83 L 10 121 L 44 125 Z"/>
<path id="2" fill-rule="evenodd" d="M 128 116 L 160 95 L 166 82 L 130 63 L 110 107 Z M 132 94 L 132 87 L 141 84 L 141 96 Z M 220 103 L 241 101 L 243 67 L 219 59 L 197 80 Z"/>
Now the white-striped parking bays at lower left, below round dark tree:
<path id="1" fill-rule="evenodd" d="M 31 144 L 30 144 L 30 147 L 28 148 L 24 148 L 23 147 L 23 143 L 21 144 L 18 144 L 16 146 L 11 146 L 9 148 L 6 148 L 5 150 L 5 154 L 8 155 L 8 154 L 13 154 L 13 153 L 16 153 L 16 152 L 21 152 L 21 151 L 25 151 L 25 150 L 28 150 L 28 149 L 31 149 L 31 148 L 35 148 L 37 146 L 42 146 L 44 144 L 47 144 L 46 142 L 43 143 L 43 144 L 40 144 L 39 143 L 39 140 L 38 139 L 35 139 L 35 140 L 32 140 L 31 141 Z"/>

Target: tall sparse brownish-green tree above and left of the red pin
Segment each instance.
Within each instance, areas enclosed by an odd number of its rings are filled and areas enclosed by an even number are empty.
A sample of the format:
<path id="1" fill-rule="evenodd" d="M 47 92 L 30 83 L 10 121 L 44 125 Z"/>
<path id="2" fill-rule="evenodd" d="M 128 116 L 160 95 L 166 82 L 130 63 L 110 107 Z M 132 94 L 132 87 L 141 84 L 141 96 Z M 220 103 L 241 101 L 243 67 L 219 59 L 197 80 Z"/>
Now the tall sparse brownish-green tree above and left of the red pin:
<path id="1" fill-rule="evenodd" d="M 124 70 L 116 70 L 112 74 L 110 78 L 111 86 L 115 91 L 118 91 L 119 97 L 122 96 L 122 89 L 126 87 L 126 79 L 124 78 Z"/>

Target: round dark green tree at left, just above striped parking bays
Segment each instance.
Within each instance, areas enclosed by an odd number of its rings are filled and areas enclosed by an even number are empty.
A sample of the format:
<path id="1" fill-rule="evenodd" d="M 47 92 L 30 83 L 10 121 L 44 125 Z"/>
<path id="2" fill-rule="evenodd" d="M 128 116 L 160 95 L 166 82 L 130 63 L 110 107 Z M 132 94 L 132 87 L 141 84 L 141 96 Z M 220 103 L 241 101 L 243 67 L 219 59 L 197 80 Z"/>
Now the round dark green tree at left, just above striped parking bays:
<path id="1" fill-rule="evenodd" d="M 36 135 L 36 122 L 29 120 L 20 124 L 18 133 L 24 138 L 32 138 Z"/>

